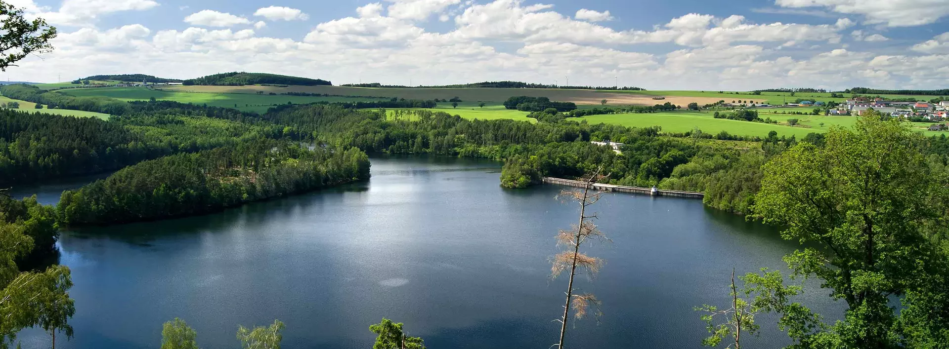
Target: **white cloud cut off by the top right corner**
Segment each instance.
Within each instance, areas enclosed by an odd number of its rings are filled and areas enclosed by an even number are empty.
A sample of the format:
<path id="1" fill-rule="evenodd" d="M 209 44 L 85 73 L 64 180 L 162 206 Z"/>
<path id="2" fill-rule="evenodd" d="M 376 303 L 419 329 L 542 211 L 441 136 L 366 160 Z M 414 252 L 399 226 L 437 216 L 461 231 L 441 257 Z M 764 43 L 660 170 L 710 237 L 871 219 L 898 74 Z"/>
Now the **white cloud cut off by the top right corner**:
<path id="1" fill-rule="evenodd" d="M 944 0 L 776 0 L 785 8 L 823 7 L 840 13 L 862 14 L 868 24 L 913 27 L 936 23 L 949 15 Z"/>

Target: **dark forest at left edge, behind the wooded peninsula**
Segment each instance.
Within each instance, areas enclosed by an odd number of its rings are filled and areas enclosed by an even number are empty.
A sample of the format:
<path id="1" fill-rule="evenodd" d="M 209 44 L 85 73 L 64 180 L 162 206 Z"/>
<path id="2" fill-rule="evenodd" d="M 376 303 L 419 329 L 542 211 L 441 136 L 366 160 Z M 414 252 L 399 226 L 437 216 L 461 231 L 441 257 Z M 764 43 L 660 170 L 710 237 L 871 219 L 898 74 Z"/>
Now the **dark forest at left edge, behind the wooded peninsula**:
<path id="1" fill-rule="evenodd" d="M 267 122 L 239 122 L 245 118 L 236 111 L 174 102 L 130 105 L 139 112 L 108 121 L 0 110 L 0 186 L 115 171 L 283 132 Z M 181 105 L 188 108 L 168 107 Z"/>

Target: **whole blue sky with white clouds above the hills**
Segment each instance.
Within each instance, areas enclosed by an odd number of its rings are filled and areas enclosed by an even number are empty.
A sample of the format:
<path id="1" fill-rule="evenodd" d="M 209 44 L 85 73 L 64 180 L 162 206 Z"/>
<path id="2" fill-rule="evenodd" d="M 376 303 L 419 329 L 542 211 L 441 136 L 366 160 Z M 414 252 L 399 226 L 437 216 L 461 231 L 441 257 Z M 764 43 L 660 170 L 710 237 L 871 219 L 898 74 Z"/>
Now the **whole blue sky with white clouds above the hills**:
<path id="1" fill-rule="evenodd" d="M 650 90 L 949 87 L 947 0 L 4 0 L 59 36 L 2 73 Z"/>

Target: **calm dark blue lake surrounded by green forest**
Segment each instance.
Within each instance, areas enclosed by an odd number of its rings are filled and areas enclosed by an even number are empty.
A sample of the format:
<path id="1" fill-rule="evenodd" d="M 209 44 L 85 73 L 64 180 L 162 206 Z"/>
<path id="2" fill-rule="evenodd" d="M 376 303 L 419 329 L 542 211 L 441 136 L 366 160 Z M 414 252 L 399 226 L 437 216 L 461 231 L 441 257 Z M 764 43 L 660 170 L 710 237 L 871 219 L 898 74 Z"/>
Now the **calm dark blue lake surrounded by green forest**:
<path id="1" fill-rule="evenodd" d="M 577 208 L 556 198 L 568 188 L 505 190 L 499 175 L 492 161 L 377 157 L 365 183 L 65 232 L 76 336 L 57 344 L 158 348 L 162 322 L 179 317 L 205 349 L 237 347 L 238 324 L 274 319 L 287 325 L 286 348 L 365 349 L 375 340 L 369 324 L 386 317 L 430 348 L 547 349 L 567 287 L 549 279 L 553 236 L 577 221 Z M 604 315 L 571 323 L 570 348 L 698 348 L 706 332 L 693 307 L 728 307 L 733 267 L 786 270 L 781 257 L 795 248 L 701 200 L 607 194 L 593 210 L 612 242 L 586 248 L 605 266 L 575 284 L 603 301 Z M 827 294 L 803 299 L 839 309 Z M 761 336 L 745 343 L 790 343 L 773 317 L 758 321 Z M 48 345 L 35 330 L 20 340 Z"/>

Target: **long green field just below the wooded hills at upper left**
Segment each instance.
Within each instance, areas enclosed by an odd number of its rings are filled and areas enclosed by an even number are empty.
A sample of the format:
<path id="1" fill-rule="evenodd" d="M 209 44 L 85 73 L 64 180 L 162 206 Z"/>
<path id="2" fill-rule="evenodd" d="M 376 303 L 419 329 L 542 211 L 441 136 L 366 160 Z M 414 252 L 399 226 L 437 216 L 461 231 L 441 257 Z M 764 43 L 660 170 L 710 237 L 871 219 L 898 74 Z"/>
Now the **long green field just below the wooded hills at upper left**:
<path id="1" fill-rule="evenodd" d="M 259 95 L 245 93 L 204 93 L 204 92 L 180 92 L 180 91 L 161 91 L 145 87 L 102 87 L 102 88 L 82 88 L 66 89 L 62 92 L 76 97 L 110 97 L 121 101 L 148 101 L 151 98 L 164 101 L 179 101 L 182 103 L 208 104 L 219 107 L 256 107 L 253 111 L 267 111 L 267 108 L 274 104 L 306 104 L 317 101 L 378 101 L 373 98 L 348 98 L 348 97 L 304 97 L 304 96 L 281 96 L 281 95 Z M 244 109 L 249 110 L 249 109 Z"/>

